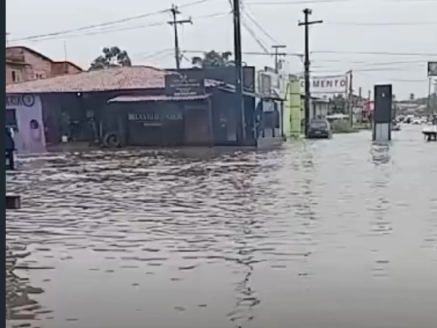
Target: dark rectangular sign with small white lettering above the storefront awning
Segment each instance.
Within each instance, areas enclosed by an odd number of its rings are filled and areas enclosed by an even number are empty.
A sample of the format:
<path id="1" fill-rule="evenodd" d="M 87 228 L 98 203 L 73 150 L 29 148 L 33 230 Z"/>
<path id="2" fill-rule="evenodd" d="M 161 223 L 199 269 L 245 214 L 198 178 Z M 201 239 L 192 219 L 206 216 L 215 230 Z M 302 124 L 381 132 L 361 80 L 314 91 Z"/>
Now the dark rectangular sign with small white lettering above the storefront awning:
<path id="1" fill-rule="evenodd" d="M 190 77 L 185 73 L 168 74 L 166 94 L 168 96 L 198 96 L 205 93 L 205 79 Z"/>

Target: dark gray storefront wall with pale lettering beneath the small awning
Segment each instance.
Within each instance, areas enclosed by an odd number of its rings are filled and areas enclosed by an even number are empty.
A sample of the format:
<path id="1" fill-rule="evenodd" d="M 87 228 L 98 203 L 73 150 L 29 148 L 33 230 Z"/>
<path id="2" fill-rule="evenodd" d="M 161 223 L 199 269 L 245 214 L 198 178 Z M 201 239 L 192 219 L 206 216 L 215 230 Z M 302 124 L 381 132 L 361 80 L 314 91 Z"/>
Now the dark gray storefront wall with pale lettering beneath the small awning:
<path id="1" fill-rule="evenodd" d="M 211 146 L 209 96 L 111 99 L 103 122 L 103 142 L 117 135 L 120 146 Z"/>

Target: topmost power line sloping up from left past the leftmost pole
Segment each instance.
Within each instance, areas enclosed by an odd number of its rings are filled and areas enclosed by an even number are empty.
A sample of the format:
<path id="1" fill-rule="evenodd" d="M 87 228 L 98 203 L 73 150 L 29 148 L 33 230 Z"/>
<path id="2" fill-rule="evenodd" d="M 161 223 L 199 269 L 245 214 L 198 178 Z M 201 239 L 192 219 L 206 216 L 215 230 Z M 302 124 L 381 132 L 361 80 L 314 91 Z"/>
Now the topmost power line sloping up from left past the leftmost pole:
<path id="1" fill-rule="evenodd" d="M 194 2 L 186 3 L 185 5 L 180 6 L 180 8 L 194 6 L 194 5 L 198 5 L 198 4 L 201 4 L 201 3 L 204 3 L 204 2 L 209 2 L 209 1 L 212 1 L 212 0 L 197 0 L 197 1 L 194 1 Z M 158 10 L 158 11 L 155 11 L 155 12 L 145 13 L 145 14 L 141 14 L 141 15 L 137 15 L 137 16 L 125 17 L 125 18 L 121 18 L 121 19 L 117 19 L 117 20 L 112 20 L 112 21 L 107 21 L 107 22 L 103 22 L 103 23 L 99 23 L 99 24 L 92 24 L 92 25 L 87 25 L 87 26 L 82 26 L 82 27 L 79 27 L 79 28 L 75 28 L 75 29 L 59 31 L 59 32 L 31 35 L 31 36 L 27 36 L 27 37 L 13 39 L 13 40 L 10 40 L 10 41 L 26 41 L 26 40 L 32 40 L 32 39 L 37 39 L 37 38 L 46 37 L 46 36 L 58 36 L 58 35 L 69 34 L 69 33 L 74 33 L 74 32 L 81 32 L 81 31 L 91 30 L 91 29 L 95 29 L 95 28 L 100 28 L 100 27 L 105 27 L 105 26 L 125 23 L 127 21 L 132 21 L 132 20 L 136 20 L 136 19 L 140 19 L 140 18 L 149 17 L 149 16 L 165 14 L 165 13 L 168 13 L 168 12 L 169 12 L 169 9 L 163 9 L 163 10 Z"/>

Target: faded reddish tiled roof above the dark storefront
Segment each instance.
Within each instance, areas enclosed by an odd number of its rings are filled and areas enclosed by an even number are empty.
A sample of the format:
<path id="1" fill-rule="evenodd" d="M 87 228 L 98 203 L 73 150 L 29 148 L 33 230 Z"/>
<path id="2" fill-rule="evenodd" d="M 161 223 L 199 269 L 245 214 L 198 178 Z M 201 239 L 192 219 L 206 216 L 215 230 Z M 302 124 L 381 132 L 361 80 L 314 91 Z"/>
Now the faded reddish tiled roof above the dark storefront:
<path id="1" fill-rule="evenodd" d="M 113 67 L 6 85 L 6 93 L 96 92 L 164 88 L 164 70 L 150 66 Z"/>

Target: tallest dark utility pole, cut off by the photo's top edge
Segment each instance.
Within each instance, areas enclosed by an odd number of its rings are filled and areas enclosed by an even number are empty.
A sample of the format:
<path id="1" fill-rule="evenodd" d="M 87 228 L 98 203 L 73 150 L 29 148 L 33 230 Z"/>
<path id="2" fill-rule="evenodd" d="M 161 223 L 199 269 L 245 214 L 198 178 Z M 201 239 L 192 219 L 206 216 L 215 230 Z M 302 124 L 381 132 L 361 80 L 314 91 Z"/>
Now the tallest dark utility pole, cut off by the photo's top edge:
<path id="1" fill-rule="evenodd" d="M 246 118 L 244 114 L 244 98 L 243 98 L 243 63 L 241 54 L 241 13 L 240 0 L 233 0 L 234 18 L 234 53 L 235 53 L 235 95 L 236 103 L 240 107 L 239 123 L 241 126 L 240 142 L 246 140 Z"/>

